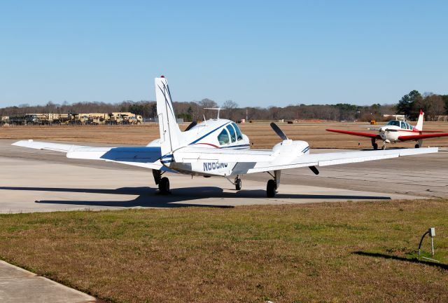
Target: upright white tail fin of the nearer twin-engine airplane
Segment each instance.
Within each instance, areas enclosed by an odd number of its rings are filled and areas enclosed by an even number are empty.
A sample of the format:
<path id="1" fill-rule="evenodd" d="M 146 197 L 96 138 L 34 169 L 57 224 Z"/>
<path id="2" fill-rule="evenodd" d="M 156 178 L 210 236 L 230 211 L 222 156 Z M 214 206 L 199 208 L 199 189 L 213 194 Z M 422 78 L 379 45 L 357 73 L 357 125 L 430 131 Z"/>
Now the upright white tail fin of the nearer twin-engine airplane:
<path id="1" fill-rule="evenodd" d="M 181 146 L 181 130 L 176 122 L 174 107 L 167 79 L 155 78 L 155 100 L 159 119 L 160 147 L 162 156 L 174 152 Z"/>

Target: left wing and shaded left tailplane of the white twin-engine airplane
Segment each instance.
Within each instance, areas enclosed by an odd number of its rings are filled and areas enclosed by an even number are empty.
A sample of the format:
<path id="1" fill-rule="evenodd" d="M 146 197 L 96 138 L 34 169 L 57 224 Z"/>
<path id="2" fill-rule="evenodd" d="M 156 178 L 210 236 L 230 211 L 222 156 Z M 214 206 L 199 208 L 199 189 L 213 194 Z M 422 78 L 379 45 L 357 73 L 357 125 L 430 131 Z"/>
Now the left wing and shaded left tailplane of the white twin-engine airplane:
<path id="1" fill-rule="evenodd" d="M 172 171 L 160 162 L 160 147 L 87 147 L 33 140 L 22 140 L 13 143 L 13 145 L 31 149 L 45 149 L 53 152 L 65 152 L 67 158 L 71 159 L 112 161 L 130 166 Z"/>

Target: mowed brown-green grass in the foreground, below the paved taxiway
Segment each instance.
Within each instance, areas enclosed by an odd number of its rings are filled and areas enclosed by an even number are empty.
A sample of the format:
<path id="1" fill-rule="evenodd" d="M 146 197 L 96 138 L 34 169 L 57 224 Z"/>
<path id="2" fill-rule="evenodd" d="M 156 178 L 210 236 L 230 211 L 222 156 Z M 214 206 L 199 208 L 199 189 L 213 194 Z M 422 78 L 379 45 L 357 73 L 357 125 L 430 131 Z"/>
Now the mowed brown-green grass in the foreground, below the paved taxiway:
<path id="1" fill-rule="evenodd" d="M 0 258 L 109 302 L 448 302 L 447 208 L 428 200 L 0 215 Z M 415 260 L 428 227 L 441 264 Z"/>

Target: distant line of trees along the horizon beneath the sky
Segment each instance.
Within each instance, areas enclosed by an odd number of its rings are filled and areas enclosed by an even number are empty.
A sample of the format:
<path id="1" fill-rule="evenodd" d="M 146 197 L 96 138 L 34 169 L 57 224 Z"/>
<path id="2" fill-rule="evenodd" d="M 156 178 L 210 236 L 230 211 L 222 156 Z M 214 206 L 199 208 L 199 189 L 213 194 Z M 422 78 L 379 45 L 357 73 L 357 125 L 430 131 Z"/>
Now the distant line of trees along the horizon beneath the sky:
<path id="1" fill-rule="evenodd" d="M 216 117 L 216 111 L 204 108 L 219 107 L 214 100 L 203 99 L 197 102 L 174 102 L 174 109 L 178 118 L 184 121 L 202 120 Z M 416 119 L 420 109 L 426 113 L 426 119 L 432 120 L 436 116 L 448 114 L 448 95 L 435 95 L 412 90 L 404 95 L 396 105 L 370 106 L 350 105 L 339 103 L 336 105 L 288 105 L 286 107 L 239 107 L 236 102 L 227 100 L 221 107 L 221 118 L 239 121 L 248 120 L 330 120 L 330 121 L 386 121 L 384 114 L 405 114 L 408 119 Z M 0 116 L 15 116 L 33 113 L 92 113 L 92 112 L 132 112 L 144 118 L 155 118 L 157 106 L 155 101 L 141 100 L 139 102 L 123 101 L 120 103 L 106 102 L 76 102 L 69 104 L 63 102 L 56 104 L 48 102 L 46 105 L 19 105 L 0 108 Z"/>

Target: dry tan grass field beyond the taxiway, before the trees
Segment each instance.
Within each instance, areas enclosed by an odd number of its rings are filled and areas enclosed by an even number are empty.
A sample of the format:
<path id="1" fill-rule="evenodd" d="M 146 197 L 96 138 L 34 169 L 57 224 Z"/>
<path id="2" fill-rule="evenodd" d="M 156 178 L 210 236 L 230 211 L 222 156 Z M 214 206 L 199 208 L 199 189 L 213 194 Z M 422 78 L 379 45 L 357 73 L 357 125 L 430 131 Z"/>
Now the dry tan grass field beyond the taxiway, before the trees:
<path id="1" fill-rule="evenodd" d="M 188 123 L 183 123 L 185 129 Z M 325 128 L 369 132 L 367 123 L 279 123 L 281 129 L 293 140 L 309 142 L 311 148 L 370 148 L 368 138 L 328 133 Z M 243 133 L 253 142 L 253 148 L 270 148 L 279 137 L 269 123 L 246 123 L 240 125 Z M 425 128 L 448 133 L 447 122 L 425 122 Z M 0 139 L 34 139 L 69 142 L 97 142 L 111 144 L 144 145 L 159 137 L 158 125 L 142 126 L 15 126 L 0 128 Z M 358 142 L 360 146 L 358 147 Z M 415 142 L 399 143 L 398 147 L 414 147 Z M 423 144 L 448 147 L 448 137 L 425 140 Z"/>

